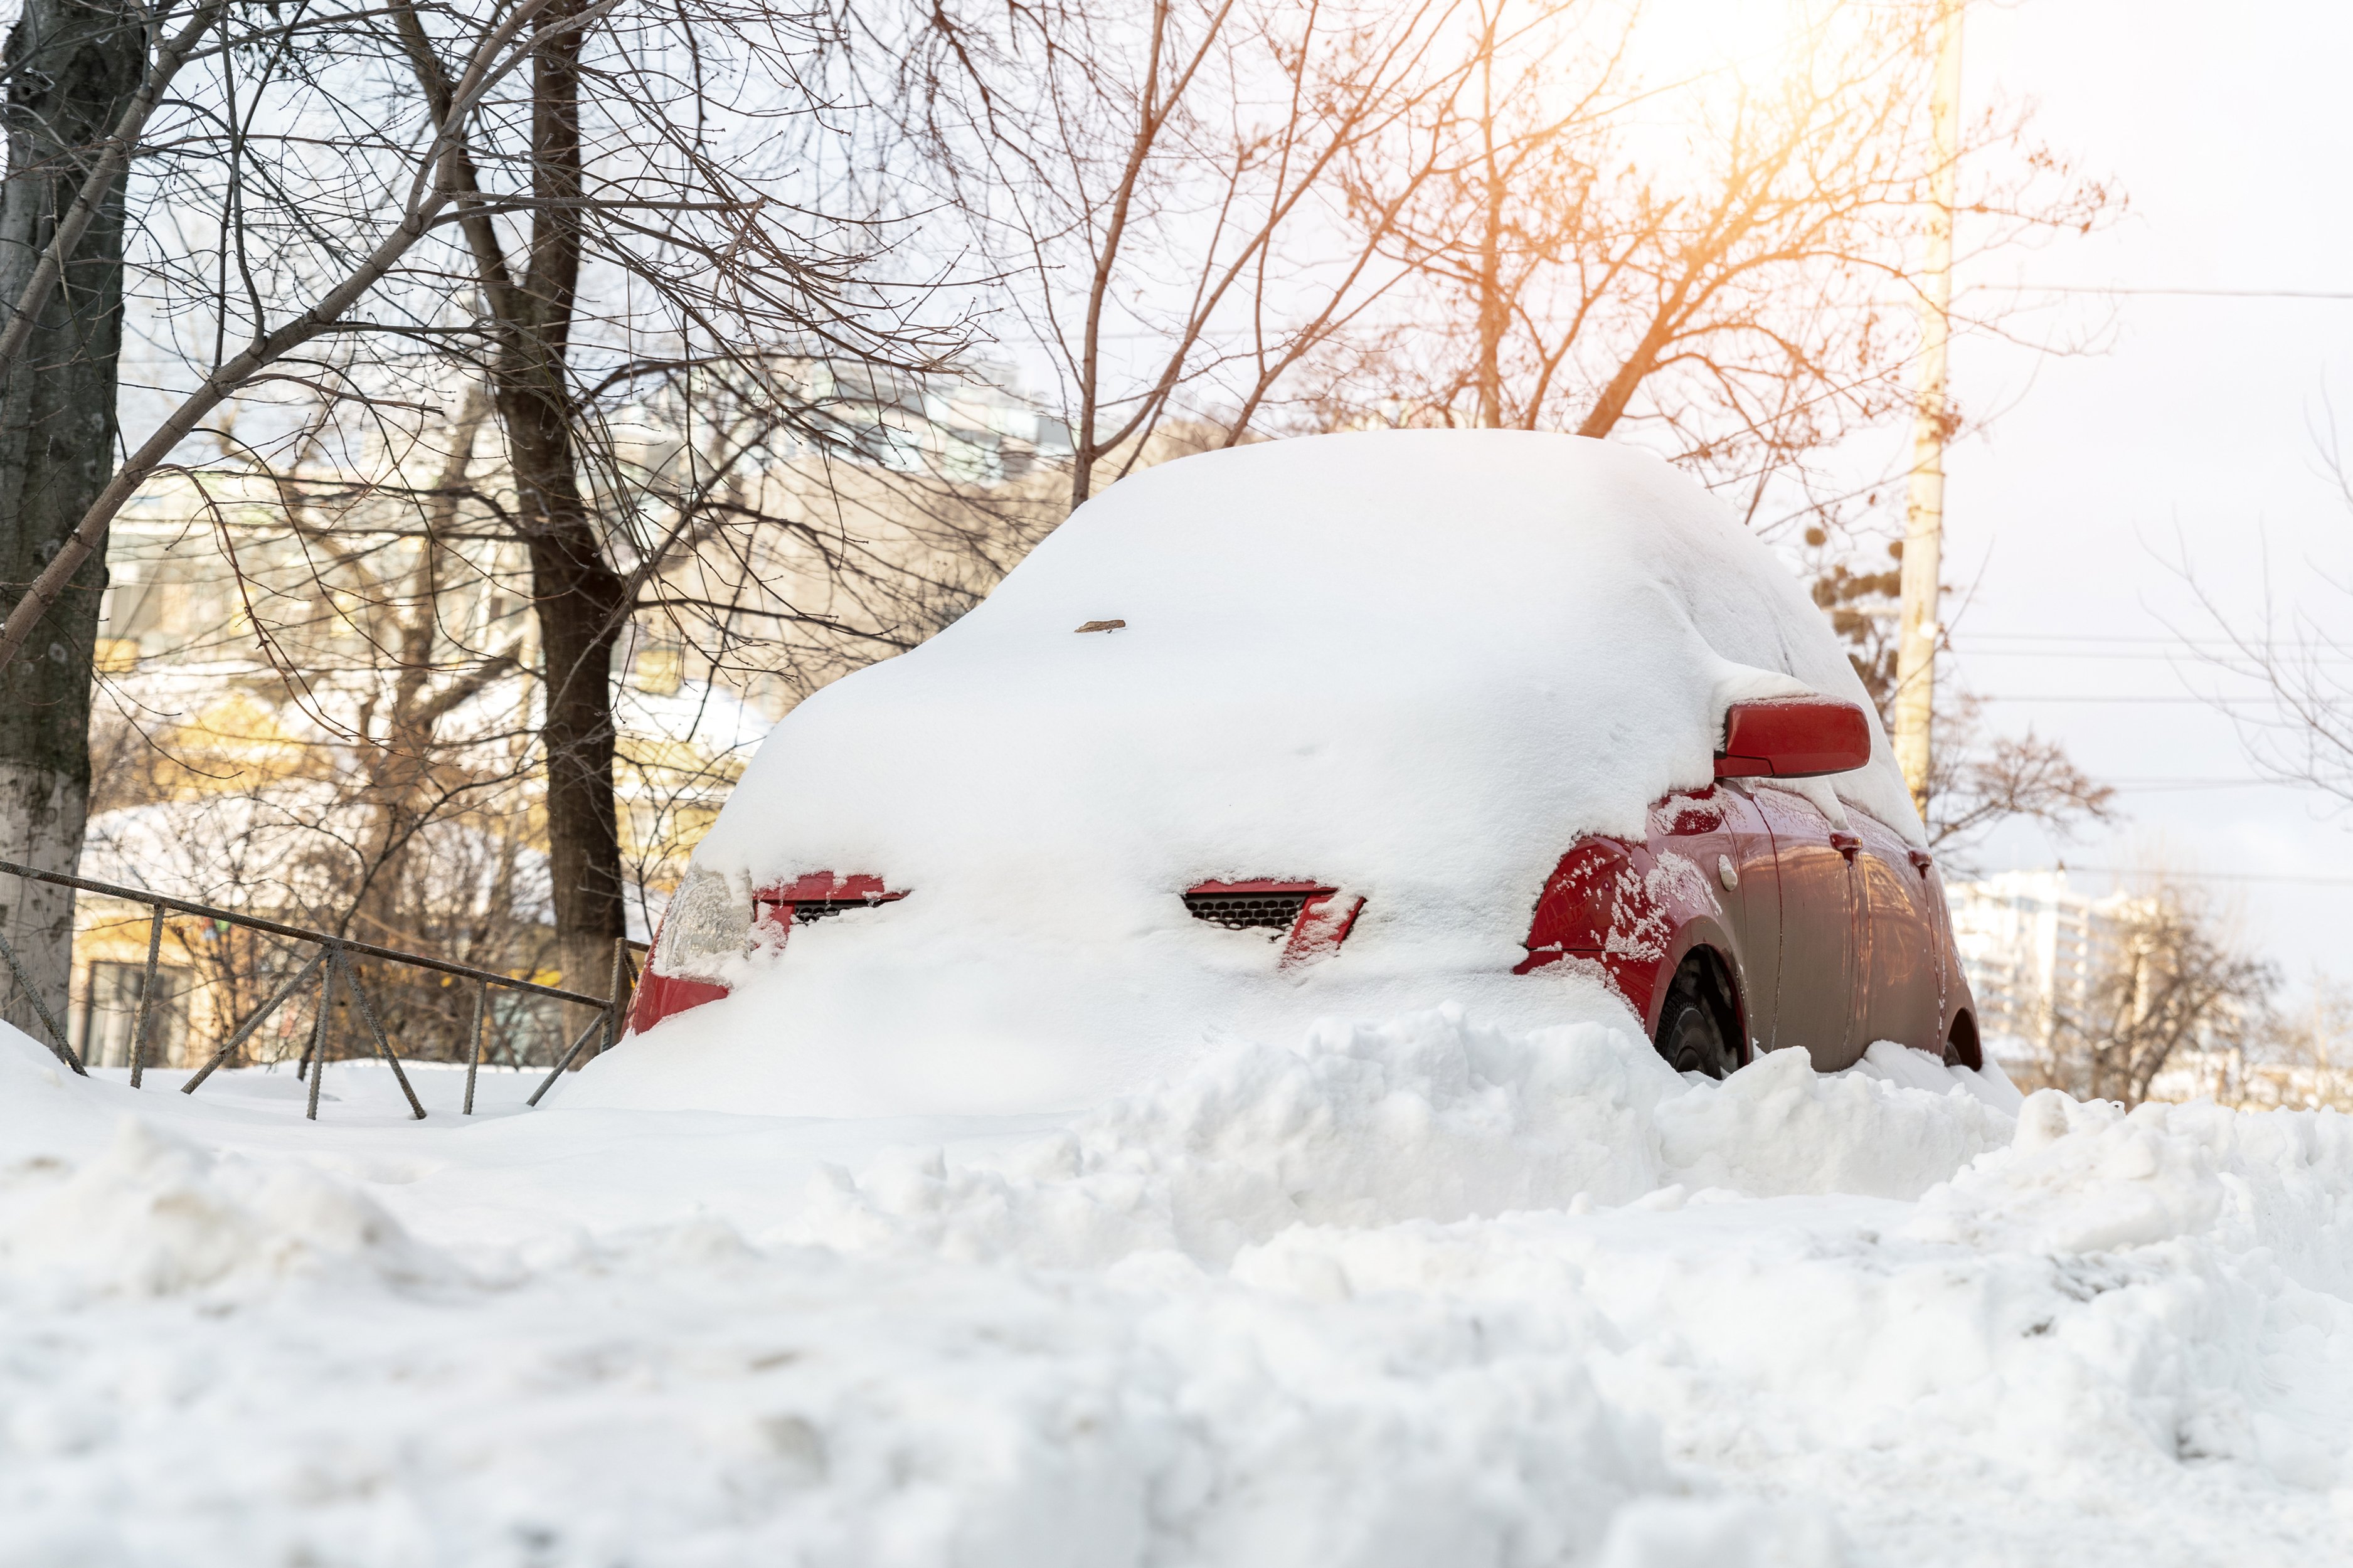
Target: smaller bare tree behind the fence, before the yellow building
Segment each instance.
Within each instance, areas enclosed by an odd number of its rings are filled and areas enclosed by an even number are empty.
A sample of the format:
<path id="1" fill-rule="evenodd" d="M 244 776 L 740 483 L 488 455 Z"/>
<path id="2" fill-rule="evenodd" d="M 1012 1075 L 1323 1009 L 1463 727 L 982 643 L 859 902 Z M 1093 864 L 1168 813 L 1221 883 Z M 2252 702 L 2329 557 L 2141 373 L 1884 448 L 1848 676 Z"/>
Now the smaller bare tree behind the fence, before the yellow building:
<path id="1" fill-rule="evenodd" d="M 176 527 L 155 516 L 176 509 L 151 499 L 122 542 L 111 619 L 155 624 L 122 614 L 136 605 L 125 598 L 186 593 L 188 570 L 209 574 L 209 605 L 172 617 L 179 647 L 106 680 L 92 833 L 108 881 L 508 972 L 551 968 L 520 614 L 496 607 L 499 558 L 515 551 L 459 511 L 485 421 L 487 400 L 468 398 L 421 494 L 214 469 L 188 476 Z M 207 534 L 224 549 L 202 551 Z M 184 923 L 174 939 L 231 1022 L 292 954 Z M 447 1055 L 466 1038 L 464 989 L 360 968 L 402 1050 Z"/>

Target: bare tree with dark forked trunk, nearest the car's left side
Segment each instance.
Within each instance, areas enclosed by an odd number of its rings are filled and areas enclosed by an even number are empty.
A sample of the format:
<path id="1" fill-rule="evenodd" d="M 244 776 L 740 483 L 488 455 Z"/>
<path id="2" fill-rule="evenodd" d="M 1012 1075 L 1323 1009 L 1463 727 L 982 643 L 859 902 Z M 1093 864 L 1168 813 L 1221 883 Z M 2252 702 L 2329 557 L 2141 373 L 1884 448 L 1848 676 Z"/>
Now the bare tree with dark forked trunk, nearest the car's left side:
<path id="1" fill-rule="evenodd" d="M 925 280 L 856 221 L 871 200 L 821 113 L 838 31 L 758 0 L 202 16 L 132 160 L 141 290 L 188 353 L 186 391 L 12 610 L 0 662 L 226 405 L 254 466 L 282 469 L 313 433 L 304 407 L 424 428 L 452 372 L 487 386 L 504 527 L 532 563 L 562 968 L 602 989 L 621 935 L 612 655 L 692 527 L 633 490 L 631 410 L 722 367 L 781 388 L 786 363 L 934 370 L 958 344 L 918 325 Z M 826 214 L 835 195 L 852 219 Z M 774 407 L 821 438 L 807 403 Z"/>

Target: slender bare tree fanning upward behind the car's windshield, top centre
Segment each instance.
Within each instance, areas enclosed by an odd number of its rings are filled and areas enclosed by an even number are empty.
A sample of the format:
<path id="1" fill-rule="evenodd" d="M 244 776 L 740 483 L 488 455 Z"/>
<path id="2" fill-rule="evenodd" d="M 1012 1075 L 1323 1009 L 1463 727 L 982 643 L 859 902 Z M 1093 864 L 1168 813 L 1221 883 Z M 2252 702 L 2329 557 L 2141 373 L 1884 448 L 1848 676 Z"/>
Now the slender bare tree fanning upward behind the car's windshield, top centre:
<path id="1" fill-rule="evenodd" d="M 892 52 L 944 202 L 1002 280 L 1071 424 L 1071 504 L 1169 419 L 1242 440 L 1402 275 L 1384 210 L 1438 167 L 1464 0 L 922 7 Z M 1393 188 L 1337 221 L 1379 148 Z"/>

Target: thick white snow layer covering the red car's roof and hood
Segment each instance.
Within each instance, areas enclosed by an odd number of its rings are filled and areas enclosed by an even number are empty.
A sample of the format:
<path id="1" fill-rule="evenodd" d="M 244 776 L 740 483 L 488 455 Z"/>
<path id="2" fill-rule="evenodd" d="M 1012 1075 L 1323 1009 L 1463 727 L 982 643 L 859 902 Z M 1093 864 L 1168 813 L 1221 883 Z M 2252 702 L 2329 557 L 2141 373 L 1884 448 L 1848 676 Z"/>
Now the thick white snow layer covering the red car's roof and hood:
<path id="1" fill-rule="evenodd" d="M 1706 786 L 1729 702 L 1795 690 L 1868 711 L 1774 556 L 1645 452 L 1381 431 L 1165 464 L 786 716 L 694 857 L 911 897 L 751 954 L 734 996 L 567 1097 L 1085 1104 L 1322 1012 L 1621 1017 L 1595 984 L 1511 975 L 1546 873 Z M 1918 836 L 1875 723 L 1838 789 Z M 1261 937 L 1186 913 L 1221 878 L 1362 897 L 1346 958 L 1273 979 Z"/>

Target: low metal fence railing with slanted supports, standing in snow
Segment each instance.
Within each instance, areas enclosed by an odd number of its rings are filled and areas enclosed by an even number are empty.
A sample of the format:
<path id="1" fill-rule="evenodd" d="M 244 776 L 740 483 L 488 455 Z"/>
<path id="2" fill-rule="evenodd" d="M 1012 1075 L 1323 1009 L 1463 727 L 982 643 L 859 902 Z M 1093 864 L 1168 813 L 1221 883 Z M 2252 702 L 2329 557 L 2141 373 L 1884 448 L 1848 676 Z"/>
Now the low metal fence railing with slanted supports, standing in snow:
<path id="1" fill-rule="evenodd" d="M 353 942 L 348 937 L 336 937 L 322 930 L 304 930 L 301 925 L 287 925 L 282 921 L 266 921 L 261 916 L 235 913 L 231 909 L 214 909 L 212 904 L 193 904 L 188 899 L 165 897 L 148 888 L 118 888 L 115 883 L 94 883 L 87 876 L 66 876 L 61 871 L 35 871 L 33 866 L 19 866 L 7 859 L 0 859 L 0 871 L 35 883 L 52 883 L 56 888 L 96 892 L 111 899 L 122 899 L 127 904 L 146 904 L 155 911 L 153 921 L 148 923 L 146 984 L 139 989 L 139 1012 L 136 1022 L 132 1024 L 132 1048 L 129 1048 L 132 1088 L 139 1088 L 141 1078 L 146 1076 L 148 1015 L 155 1005 L 155 965 L 162 954 L 162 925 L 167 913 L 176 911 L 205 921 L 226 921 L 228 925 L 242 925 L 247 930 L 259 930 L 273 937 L 287 937 L 292 942 L 306 942 L 315 946 L 318 951 L 311 954 L 311 961 L 304 963 L 299 970 L 294 970 L 285 979 L 285 984 L 280 984 L 271 994 L 271 998 L 264 1001 L 252 1012 L 252 1017 L 238 1024 L 221 1043 L 221 1048 L 212 1052 L 212 1059 L 207 1059 L 205 1067 L 200 1067 L 181 1085 L 184 1095 L 193 1095 L 198 1085 L 214 1074 L 214 1069 L 219 1069 L 224 1062 L 238 1055 L 238 1050 L 254 1036 L 254 1031 L 261 1029 L 261 1024 L 266 1024 L 271 1015 L 275 1015 L 278 1008 L 289 996 L 294 996 L 313 977 L 318 977 L 318 1008 L 315 1008 L 315 1019 L 311 1022 L 311 1041 L 304 1045 L 301 1067 L 296 1069 L 296 1076 L 306 1076 L 311 1081 L 308 1104 L 304 1109 L 304 1116 L 308 1116 L 311 1121 L 318 1121 L 318 1083 L 327 1069 L 327 1050 L 332 1043 L 329 1019 L 334 1017 L 336 982 L 341 982 L 351 1001 L 358 1003 L 360 1017 L 367 1022 L 367 1034 L 376 1045 L 376 1055 L 381 1055 L 384 1062 L 393 1069 L 393 1078 L 400 1083 L 400 1092 L 407 1095 L 409 1099 L 409 1111 L 416 1116 L 416 1121 L 424 1121 L 426 1114 L 424 1102 L 416 1099 L 416 1088 L 409 1083 L 409 1076 L 400 1069 L 400 1055 L 393 1050 L 393 1043 L 386 1038 L 384 1026 L 376 1019 L 376 1008 L 369 1003 L 367 991 L 360 986 L 360 977 L 351 968 L 353 954 L 358 954 L 360 958 L 405 963 L 419 970 L 454 975 L 461 979 L 471 979 L 475 984 L 473 1038 L 471 1038 L 473 1050 L 466 1062 L 466 1104 L 461 1109 L 464 1116 L 473 1116 L 473 1081 L 475 1074 L 482 1071 L 482 1038 L 485 1038 L 485 1022 L 489 1017 L 492 986 L 598 1010 L 598 1015 L 588 1019 L 588 1026 L 581 1029 L 579 1036 L 572 1041 L 572 1048 L 555 1059 L 555 1067 L 548 1071 L 548 1076 L 539 1083 L 536 1090 L 532 1090 L 532 1097 L 525 1104 L 536 1107 L 539 1097 L 546 1095 L 555 1085 L 555 1081 L 565 1074 L 565 1069 L 569 1069 L 572 1062 L 579 1059 L 581 1050 L 588 1048 L 588 1041 L 602 1034 L 605 1038 L 598 1050 L 612 1050 L 612 1045 L 621 1038 L 621 1024 L 628 1010 L 628 991 L 638 979 L 635 963 L 631 961 L 628 951 L 633 944 L 626 937 L 616 937 L 612 944 L 612 986 L 607 989 L 605 996 L 588 996 L 584 991 L 565 991 L 562 986 L 544 986 L 532 979 L 515 979 L 513 975 L 499 975 L 496 970 L 478 970 L 471 963 L 449 963 L 447 958 L 402 954 L 391 946 L 376 946 L 372 942 Z M 21 986 L 24 994 L 33 1001 L 33 1012 L 40 1017 L 42 1029 L 47 1029 L 49 1034 L 49 1050 L 56 1052 L 59 1062 L 64 1062 L 75 1074 L 87 1078 L 89 1071 L 82 1067 L 80 1055 L 75 1055 L 73 1043 L 66 1036 L 66 1029 L 61 1029 L 56 1017 L 49 1012 L 49 1005 L 42 1001 L 40 989 L 33 984 L 33 977 L 24 972 L 24 963 L 16 958 L 16 949 L 7 944 L 5 932 L 0 932 L 0 958 L 7 961 L 7 970 L 14 984 Z"/>

